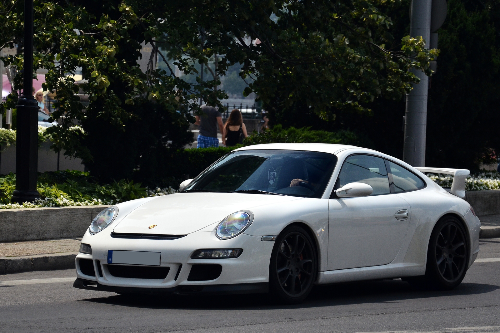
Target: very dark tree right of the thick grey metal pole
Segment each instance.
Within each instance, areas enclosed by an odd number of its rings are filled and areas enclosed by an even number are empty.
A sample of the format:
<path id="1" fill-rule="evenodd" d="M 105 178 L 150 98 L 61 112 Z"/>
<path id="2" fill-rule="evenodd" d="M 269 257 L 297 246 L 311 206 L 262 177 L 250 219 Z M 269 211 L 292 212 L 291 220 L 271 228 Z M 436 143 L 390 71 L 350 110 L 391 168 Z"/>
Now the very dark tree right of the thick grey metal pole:
<path id="1" fill-rule="evenodd" d="M 499 1 L 448 1 L 427 114 L 428 165 L 476 169 L 500 153 Z"/>

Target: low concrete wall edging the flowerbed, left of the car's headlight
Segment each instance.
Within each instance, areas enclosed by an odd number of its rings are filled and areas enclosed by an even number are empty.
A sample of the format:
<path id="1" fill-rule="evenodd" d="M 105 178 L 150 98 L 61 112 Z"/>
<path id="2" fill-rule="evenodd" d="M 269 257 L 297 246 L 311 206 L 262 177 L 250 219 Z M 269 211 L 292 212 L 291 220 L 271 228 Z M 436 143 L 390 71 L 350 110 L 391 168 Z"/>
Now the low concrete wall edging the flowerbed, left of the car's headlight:
<path id="1" fill-rule="evenodd" d="M 82 237 L 93 218 L 109 206 L 0 210 L 0 243 Z"/>

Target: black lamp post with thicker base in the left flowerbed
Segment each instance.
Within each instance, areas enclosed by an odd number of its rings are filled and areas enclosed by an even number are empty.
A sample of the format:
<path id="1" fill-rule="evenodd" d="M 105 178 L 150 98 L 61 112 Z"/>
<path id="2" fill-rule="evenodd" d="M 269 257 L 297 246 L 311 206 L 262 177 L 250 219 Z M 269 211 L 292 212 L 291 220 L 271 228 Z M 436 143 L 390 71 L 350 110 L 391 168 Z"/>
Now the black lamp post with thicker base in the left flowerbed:
<path id="1" fill-rule="evenodd" d="M 24 0 L 24 66 L 22 96 L 17 109 L 15 152 L 15 191 L 12 201 L 32 202 L 36 191 L 38 167 L 38 103 L 33 97 L 33 0 Z"/>

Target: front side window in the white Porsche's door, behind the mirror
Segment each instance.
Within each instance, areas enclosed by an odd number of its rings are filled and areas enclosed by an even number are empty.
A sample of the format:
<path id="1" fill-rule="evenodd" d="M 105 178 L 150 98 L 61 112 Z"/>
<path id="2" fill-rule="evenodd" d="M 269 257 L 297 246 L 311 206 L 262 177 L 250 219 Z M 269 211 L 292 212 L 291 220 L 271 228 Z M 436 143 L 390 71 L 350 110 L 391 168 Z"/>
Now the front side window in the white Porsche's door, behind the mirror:
<path id="1" fill-rule="evenodd" d="M 389 179 L 384 160 L 369 155 L 352 155 L 345 159 L 338 174 L 335 189 L 348 183 L 365 183 L 373 188 L 371 195 L 387 194 Z"/>

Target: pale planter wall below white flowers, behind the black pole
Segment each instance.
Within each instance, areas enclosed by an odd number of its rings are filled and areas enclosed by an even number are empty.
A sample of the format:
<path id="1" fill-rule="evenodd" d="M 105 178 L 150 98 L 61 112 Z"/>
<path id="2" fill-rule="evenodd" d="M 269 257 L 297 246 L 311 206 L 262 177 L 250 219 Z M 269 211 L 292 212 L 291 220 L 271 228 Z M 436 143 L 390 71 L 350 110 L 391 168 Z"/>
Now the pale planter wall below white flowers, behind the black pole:
<path id="1" fill-rule="evenodd" d="M 0 174 L 6 175 L 15 172 L 15 145 L 10 145 L 0 154 Z M 59 154 L 59 170 L 84 171 L 84 165 L 79 158 L 69 159 L 64 156 L 64 150 Z M 57 153 L 50 149 L 50 141 L 45 141 L 38 147 L 38 172 L 56 171 Z"/>

